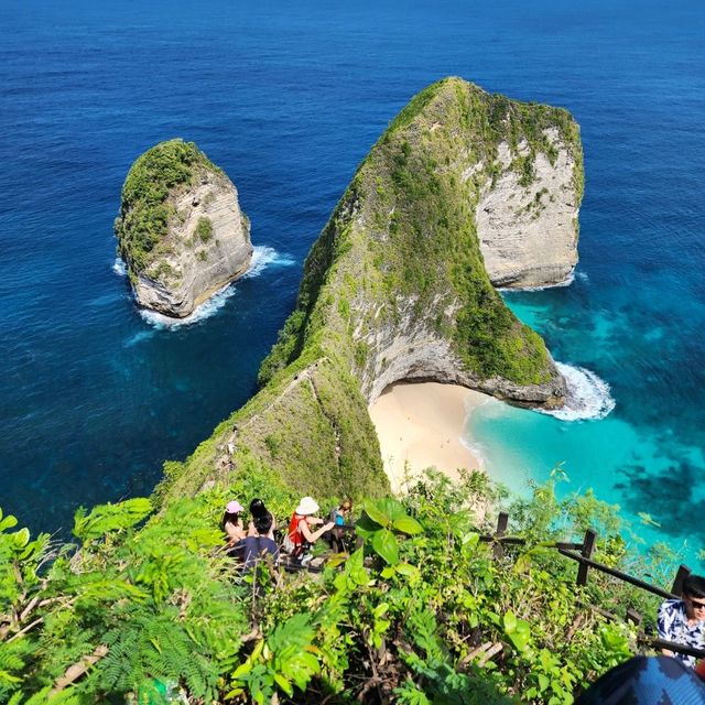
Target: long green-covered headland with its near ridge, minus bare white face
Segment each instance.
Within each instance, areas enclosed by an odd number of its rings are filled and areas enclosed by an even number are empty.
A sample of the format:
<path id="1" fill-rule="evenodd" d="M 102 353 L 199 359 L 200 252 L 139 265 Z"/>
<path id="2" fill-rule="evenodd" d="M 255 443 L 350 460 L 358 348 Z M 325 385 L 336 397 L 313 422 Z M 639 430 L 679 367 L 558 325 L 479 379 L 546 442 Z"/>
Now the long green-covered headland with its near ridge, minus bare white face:
<path id="1" fill-rule="evenodd" d="M 476 219 L 478 206 L 506 188 L 508 169 L 521 193 L 536 174 L 550 178 L 541 154 L 560 169 L 557 139 L 579 154 L 565 110 L 510 101 L 459 78 L 414 97 L 314 243 L 296 308 L 260 369 L 261 391 L 185 467 L 170 466 L 160 495 L 197 491 L 253 459 L 301 492 L 386 491 L 367 406 L 398 380 L 562 404 L 565 382 L 543 341 L 490 283 Z M 507 154 L 514 154 L 509 165 Z M 573 177 L 579 188 L 582 171 Z M 551 212 L 553 203 L 541 205 Z"/>

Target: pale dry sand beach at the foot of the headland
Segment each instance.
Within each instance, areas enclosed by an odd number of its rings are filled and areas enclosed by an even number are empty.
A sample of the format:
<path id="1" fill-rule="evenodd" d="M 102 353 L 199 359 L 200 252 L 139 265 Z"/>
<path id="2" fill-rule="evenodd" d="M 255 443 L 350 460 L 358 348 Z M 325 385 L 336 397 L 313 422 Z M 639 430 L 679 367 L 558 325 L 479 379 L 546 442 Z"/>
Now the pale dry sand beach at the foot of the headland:
<path id="1" fill-rule="evenodd" d="M 414 475 L 435 467 L 451 478 L 458 468 L 479 468 L 460 436 L 469 412 L 487 397 L 457 384 L 398 383 L 369 408 L 392 491 Z"/>

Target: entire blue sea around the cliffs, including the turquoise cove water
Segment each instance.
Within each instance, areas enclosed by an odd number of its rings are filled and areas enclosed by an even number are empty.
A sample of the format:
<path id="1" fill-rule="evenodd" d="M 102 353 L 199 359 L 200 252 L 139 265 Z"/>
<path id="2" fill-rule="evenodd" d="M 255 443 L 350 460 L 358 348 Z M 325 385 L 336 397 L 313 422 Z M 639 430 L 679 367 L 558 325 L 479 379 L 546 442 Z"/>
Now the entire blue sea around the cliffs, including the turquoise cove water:
<path id="1" fill-rule="evenodd" d="M 563 463 L 705 546 L 705 10 L 614 4 L 1 0 L 3 510 L 53 531 L 149 492 L 241 405 L 356 165 L 458 75 L 582 126 L 576 279 L 507 300 L 615 402 L 583 421 L 488 403 L 471 443 L 517 489 Z M 131 163 L 173 137 L 232 178 L 259 260 L 182 326 L 140 315 L 112 236 Z"/>

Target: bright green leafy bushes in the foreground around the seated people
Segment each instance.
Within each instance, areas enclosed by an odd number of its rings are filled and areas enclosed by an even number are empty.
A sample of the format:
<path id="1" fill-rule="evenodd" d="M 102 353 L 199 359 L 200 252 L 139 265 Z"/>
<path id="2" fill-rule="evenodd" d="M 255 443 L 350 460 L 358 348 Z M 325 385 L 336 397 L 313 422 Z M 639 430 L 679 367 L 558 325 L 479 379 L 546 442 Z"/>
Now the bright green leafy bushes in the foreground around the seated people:
<path id="1" fill-rule="evenodd" d="M 297 499 L 253 458 L 160 513 L 147 499 L 80 511 L 75 544 L 0 513 L 0 701 L 570 704 L 634 651 L 627 607 L 652 619 L 658 599 L 597 573 L 576 588 L 545 541 L 596 527 L 598 561 L 651 581 L 663 556 L 630 555 L 612 508 L 558 501 L 554 481 L 516 500 L 480 474 L 429 474 L 401 501 L 366 500 L 362 549 L 319 575 L 247 576 L 224 555 L 229 499 L 261 497 L 280 521 Z M 528 543 L 496 558 L 479 534 L 502 507 Z"/>

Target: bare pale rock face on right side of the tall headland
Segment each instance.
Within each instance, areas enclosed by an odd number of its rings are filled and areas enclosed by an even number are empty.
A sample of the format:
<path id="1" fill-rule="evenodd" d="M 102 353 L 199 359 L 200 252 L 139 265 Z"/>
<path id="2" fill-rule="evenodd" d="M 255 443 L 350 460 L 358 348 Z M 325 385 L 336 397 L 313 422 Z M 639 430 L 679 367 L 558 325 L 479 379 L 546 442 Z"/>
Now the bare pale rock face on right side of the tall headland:
<path id="1" fill-rule="evenodd" d="M 549 154 L 534 155 L 533 177 L 512 169 L 529 155 L 528 142 L 512 152 L 498 147 L 500 174 L 482 188 L 476 207 L 485 268 L 496 286 L 551 286 L 570 279 L 577 264 L 577 217 L 582 198 L 579 142 L 556 128 L 544 131 Z"/>

